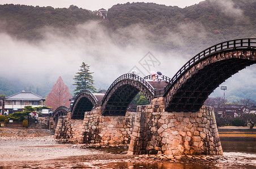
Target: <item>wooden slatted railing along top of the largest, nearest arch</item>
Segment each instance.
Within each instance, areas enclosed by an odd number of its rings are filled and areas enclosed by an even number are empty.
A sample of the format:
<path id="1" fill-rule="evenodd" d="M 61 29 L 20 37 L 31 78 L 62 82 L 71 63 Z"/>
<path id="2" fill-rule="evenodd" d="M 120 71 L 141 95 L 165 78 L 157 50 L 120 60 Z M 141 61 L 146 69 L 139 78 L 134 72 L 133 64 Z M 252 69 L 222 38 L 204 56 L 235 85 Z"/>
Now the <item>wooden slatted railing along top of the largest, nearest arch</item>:
<path id="1" fill-rule="evenodd" d="M 239 48 L 256 48 L 256 38 L 234 39 L 232 41 L 221 42 L 195 55 L 189 61 L 187 61 L 187 63 L 183 65 L 180 70 L 178 70 L 172 79 L 170 79 L 167 87 L 165 87 L 165 94 L 167 94 L 167 91 L 170 89 L 170 87 L 173 86 L 174 82 L 176 82 L 177 79 L 180 78 L 181 75 L 190 68 L 190 66 L 197 64 L 199 61 L 216 52 L 223 52 Z"/>

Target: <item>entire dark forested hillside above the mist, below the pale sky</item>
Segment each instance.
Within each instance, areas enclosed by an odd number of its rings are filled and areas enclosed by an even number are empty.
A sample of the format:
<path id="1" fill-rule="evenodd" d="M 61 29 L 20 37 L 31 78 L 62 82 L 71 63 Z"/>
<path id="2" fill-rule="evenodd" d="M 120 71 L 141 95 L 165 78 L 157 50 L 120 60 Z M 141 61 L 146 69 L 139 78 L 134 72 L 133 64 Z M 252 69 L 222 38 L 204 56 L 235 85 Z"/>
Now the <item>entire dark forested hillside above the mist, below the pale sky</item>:
<path id="1" fill-rule="evenodd" d="M 179 49 L 179 41 L 196 47 L 209 46 L 235 38 L 256 37 L 256 1 L 233 0 L 203 1 L 185 8 L 157 5 L 156 3 L 126 3 L 108 10 L 108 20 L 103 24 L 109 33 L 122 32 L 123 28 L 140 25 L 149 33 L 145 38 L 161 50 Z M 101 20 L 95 12 L 76 6 L 69 8 L 33 7 L 25 5 L 0 5 L 0 28 L 18 38 L 30 41 L 40 39 L 39 29 L 44 26 L 72 32 L 74 26 L 88 20 Z M 120 43 L 130 42 L 129 36 Z M 204 47 L 202 46 L 202 48 Z"/>

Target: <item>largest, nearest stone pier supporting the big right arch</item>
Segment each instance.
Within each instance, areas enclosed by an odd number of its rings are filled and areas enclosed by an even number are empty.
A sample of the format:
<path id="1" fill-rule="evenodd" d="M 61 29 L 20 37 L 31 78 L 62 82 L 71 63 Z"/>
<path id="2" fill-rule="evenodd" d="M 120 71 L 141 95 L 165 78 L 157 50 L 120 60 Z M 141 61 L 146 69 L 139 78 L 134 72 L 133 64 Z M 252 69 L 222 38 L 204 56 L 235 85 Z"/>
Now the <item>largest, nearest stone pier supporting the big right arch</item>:
<path id="1" fill-rule="evenodd" d="M 222 155 L 214 109 L 165 112 L 163 97 L 138 106 L 128 154 Z"/>

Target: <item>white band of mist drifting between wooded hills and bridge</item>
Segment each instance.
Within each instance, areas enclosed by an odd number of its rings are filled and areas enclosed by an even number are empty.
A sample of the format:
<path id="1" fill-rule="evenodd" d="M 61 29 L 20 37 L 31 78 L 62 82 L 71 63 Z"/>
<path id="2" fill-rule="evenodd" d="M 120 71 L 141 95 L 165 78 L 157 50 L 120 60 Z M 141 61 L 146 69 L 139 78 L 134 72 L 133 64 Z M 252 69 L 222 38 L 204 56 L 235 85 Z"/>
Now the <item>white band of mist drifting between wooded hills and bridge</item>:
<path id="1" fill-rule="evenodd" d="M 154 48 L 146 38 L 150 36 L 150 32 L 141 25 L 131 25 L 117 30 L 116 33 L 109 33 L 99 21 L 77 25 L 69 34 L 56 28 L 42 28 L 39 33 L 44 38 L 38 43 L 18 40 L 1 33 L 1 77 L 19 79 L 34 85 L 48 84 L 50 91 L 57 78 L 61 76 L 72 91 L 74 89 L 72 78 L 84 61 L 91 66 L 90 71 L 94 72 L 93 78 L 97 89 L 108 89 L 117 77 L 133 68 L 138 68 L 140 75 L 148 75 L 148 70 L 139 61 L 150 52 L 159 61 L 152 70 L 160 71 L 172 78 L 187 60 L 205 49 L 194 49 L 197 52 L 186 50 L 184 37 L 197 35 L 203 41 L 207 41 L 200 24 L 181 24 L 178 28 L 179 33 L 168 30 L 168 36 L 164 41 L 173 42 L 183 48 L 182 53 Z M 127 37 L 129 37 L 127 43 L 120 43 Z M 250 66 L 221 84 L 220 86 L 228 86 L 226 96 L 234 95 L 236 91 L 250 91 L 251 87 L 254 88 L 256 76 L 253 70 L 255 66 Z M 256 97 L 255 93 L 250 95 Z M 223 96 L 223 91 L 217 88 L 211 96 Z"/>

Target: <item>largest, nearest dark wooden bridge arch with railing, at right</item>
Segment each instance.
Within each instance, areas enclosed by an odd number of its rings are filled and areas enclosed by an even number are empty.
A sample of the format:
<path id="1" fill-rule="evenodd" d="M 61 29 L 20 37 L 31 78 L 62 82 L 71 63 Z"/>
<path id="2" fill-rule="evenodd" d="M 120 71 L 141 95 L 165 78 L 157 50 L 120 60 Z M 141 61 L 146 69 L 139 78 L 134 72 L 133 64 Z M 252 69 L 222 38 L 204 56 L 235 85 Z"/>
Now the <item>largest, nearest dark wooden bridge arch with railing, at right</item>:
<path id="1" fill-rule="evenodd" d="M 182 66 L 165 88 L 167 112 L 197 112 L 208 95 L 239 70 L 256 63 L 256 39 L 211 46 Z"/>

